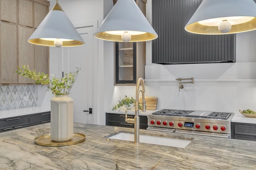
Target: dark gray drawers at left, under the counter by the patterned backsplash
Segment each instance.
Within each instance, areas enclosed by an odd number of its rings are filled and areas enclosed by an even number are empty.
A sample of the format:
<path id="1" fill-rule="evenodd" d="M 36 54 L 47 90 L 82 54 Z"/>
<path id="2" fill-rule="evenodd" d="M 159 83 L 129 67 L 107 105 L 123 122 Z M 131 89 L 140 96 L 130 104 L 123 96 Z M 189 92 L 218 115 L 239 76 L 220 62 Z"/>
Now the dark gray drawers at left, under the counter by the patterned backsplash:
<path id="1" fill-rule="evenodd" d="M 48 123 L 50 119 L 50 111 L 0 119 L 0 132 Z"/>

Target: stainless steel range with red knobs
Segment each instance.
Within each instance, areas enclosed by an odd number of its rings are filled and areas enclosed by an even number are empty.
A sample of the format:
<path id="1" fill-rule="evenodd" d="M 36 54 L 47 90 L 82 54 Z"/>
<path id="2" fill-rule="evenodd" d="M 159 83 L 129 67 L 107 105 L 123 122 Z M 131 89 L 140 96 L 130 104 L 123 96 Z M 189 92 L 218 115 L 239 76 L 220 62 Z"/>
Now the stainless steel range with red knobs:
<path id="1" fill-rule="evenodd" d="M 234 113 L 162 109 L 148 115 L 148 129 L 230 138 Z"/>

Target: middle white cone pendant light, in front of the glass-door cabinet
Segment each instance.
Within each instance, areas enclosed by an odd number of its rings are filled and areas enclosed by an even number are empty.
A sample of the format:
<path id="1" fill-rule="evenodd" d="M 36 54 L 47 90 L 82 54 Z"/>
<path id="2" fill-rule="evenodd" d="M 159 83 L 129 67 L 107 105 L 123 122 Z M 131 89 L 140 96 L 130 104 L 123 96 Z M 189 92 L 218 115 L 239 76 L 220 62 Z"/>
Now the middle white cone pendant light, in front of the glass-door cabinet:
<path id="1" fill-rule="evenodd" d="M 94 37 L 107 41 L 137 42 L 156 39 L 158 35 L 134 0 L 118 0 Z"/>

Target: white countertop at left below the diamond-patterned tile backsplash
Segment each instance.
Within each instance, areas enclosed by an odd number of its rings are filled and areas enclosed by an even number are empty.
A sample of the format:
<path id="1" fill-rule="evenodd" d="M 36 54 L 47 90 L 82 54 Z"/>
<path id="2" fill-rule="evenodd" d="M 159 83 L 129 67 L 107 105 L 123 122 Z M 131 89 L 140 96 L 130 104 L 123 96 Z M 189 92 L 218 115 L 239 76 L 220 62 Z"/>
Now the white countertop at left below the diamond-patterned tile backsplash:
<path id="1" fill-rule="evenodd" d="M 24 107 L 20 109 L 3 110 L 3 111 L 0 111 L 0 119 L 30 115 L 34 113 L 43 113 L 46 111 L 50 111 L 50 107 L 35 106 L 35 107 Z"/>

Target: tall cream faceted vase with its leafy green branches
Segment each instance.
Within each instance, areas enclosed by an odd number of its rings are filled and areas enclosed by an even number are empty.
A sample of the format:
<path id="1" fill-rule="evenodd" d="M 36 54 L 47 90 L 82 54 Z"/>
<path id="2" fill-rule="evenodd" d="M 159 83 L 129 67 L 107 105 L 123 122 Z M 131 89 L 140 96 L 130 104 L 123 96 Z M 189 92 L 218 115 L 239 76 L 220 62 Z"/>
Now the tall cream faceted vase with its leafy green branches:
<path id="1" fill-rule="evenodd" d="M 55 96 L 51 99 L 51 139 L 55 142 L 64 142 L 73 137 L 73 98 L 68 96 L 76 80 L 79 68 L 73 73 L 66 73 L 62 78 L 50 79 L 48 74 L 36 73 L 28 66 L 22 66 L 16 71 L 18 74 L 28 77 L 36 84 L 47 86 L 47 91 L 52 91 Z"/>

